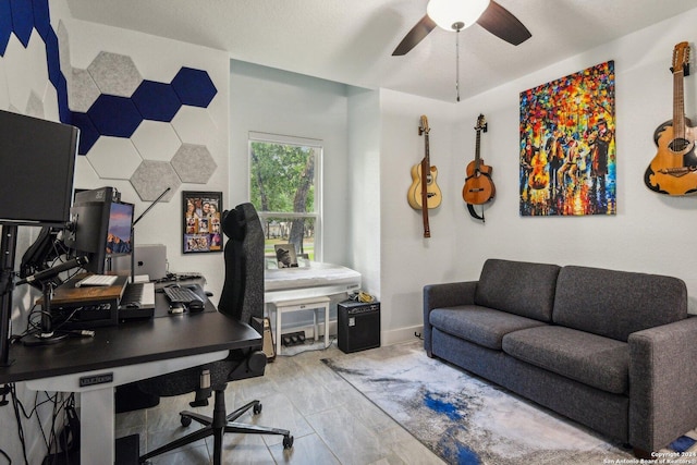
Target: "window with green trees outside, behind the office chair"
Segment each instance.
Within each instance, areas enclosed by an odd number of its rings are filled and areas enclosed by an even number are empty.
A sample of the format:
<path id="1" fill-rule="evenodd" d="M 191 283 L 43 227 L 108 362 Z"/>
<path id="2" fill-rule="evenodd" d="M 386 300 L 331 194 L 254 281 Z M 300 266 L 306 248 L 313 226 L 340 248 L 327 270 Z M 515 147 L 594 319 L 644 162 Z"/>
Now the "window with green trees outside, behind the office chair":
<path id="1" fill-rule="evenodd" d="M 293 244 L 321 261 L 321 140 L 249 133 L 249 201 L 266 235 L 266 255 Z"/>

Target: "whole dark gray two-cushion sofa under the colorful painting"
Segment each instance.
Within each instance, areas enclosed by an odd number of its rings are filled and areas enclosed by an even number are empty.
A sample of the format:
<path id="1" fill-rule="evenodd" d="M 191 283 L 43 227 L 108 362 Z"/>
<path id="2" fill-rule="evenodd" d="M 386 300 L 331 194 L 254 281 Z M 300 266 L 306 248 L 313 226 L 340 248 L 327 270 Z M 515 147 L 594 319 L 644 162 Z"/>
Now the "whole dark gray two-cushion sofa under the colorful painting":
<path id="1" fill-rule="evenodd" d="M 424 347 L 647 456 L 697 427 L 697 318 L 676 278 L 489 259 L 424 287 Z"/>

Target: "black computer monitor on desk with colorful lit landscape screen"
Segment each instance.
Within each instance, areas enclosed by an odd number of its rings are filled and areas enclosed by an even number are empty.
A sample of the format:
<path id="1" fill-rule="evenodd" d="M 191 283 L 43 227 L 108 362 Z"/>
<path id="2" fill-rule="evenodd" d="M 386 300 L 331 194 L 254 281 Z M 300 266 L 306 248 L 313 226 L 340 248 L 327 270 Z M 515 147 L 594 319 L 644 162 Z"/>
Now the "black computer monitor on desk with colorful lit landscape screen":
<path id="1" fill-rule="evenodd" d="M 63 243 L 71 255 L 87 256 L 89 262 L 84 266 L 85 270 L 102 274 L 110 270 L 111 257 L 130 255 L 133 250 L 133 204 L 117 201 L 110 196 L 94 200 L 96 196 L 90 193 L 76 196 L 71 208 L 73 229 L 63 237 Z"/>

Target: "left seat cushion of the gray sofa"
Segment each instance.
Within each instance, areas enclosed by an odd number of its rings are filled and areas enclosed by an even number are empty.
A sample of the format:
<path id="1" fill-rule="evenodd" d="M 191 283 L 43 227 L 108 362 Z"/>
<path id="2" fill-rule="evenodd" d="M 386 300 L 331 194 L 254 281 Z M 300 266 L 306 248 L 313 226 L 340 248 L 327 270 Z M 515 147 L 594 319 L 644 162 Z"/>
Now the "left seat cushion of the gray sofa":
<path id="1" fill-rule="evenodd" d="M 501 350 L 503 336 L 511 331 L 545 325 L 541 321 L 477 305 L 437 308 L 430 313 L 432 327 L 482 345 Z"/>

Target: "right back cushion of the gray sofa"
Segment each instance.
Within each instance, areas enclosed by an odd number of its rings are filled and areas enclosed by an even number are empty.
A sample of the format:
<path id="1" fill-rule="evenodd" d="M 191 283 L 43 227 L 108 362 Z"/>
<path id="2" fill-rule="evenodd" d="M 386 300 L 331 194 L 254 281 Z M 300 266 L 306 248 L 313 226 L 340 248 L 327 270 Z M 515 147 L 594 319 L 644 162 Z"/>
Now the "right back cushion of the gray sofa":
<path id="1" fill-rule="evenodd" d="M 553 321 L 617 341 L 687 317 L 687 287 L 658 274 L 567 266 L 557 280 Z"/>

